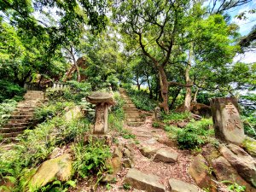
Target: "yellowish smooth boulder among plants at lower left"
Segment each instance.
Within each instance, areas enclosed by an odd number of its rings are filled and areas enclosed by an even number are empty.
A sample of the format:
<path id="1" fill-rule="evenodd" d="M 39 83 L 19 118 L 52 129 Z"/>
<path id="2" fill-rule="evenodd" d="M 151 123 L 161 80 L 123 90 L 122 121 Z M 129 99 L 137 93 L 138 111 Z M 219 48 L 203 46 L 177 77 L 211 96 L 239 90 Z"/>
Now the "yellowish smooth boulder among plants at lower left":
<path id="1" fill-rule="evenodd" d="M 38 167 L 38 171 L 32 176 L 29 186 L 32 189 L 43 187 L 55 179 L 68 181 L 72 174 L 71 154 L 62 154 L 61 156 L 46 160 Z"/>

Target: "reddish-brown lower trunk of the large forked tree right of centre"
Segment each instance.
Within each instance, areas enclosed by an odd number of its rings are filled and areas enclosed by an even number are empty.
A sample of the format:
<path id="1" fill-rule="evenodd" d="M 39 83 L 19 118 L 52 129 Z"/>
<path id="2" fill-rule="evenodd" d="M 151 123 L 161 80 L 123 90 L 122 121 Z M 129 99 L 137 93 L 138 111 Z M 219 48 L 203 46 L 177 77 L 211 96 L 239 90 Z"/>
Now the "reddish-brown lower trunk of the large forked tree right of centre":
<path id="1" fill-rule="evenodd" d="M 167 81 L 166 72 L 163 67 L 159 67 L 159 78 L 160 78 L 160 89 L 161 89 L 161 97 L 163 102 L 160 103 L 160 107 L 164 108 L 165 113 L 169 113 L 169 106 L 168 106 L 168 90 L 169 90 L 169 83 Z"/>

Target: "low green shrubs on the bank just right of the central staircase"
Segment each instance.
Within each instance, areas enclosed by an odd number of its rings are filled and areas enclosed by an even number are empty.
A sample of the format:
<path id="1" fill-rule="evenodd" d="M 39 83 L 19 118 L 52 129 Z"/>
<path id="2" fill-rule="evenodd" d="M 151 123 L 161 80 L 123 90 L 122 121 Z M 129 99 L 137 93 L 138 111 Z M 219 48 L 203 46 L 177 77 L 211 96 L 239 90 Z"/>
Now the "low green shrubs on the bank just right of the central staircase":
<path id="1" fill-rule="evenodd" d="M 144 111 L 152 111 L 156 107 L 156 102 L 149 99 L 149 95 L 146 91 L 126 89 L 126 92 L 130 96 L 131 101 L 135 104 L 136 108 Z"/>

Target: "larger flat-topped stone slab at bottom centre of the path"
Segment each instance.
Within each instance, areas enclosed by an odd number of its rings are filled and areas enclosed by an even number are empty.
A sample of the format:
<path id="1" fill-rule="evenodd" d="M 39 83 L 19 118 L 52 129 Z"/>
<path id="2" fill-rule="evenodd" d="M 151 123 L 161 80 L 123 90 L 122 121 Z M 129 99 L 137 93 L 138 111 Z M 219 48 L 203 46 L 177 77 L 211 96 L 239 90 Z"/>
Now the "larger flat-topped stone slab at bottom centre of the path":
<path id="1" fill-rule="evenodd" d="M 165 186 L 159 183 L 159 177 L 146 174 L 137 169 L 130 169 L 125 177 L 124 183 L 128 183 L 131 187 L 148 192 L 165 192 Z"/>

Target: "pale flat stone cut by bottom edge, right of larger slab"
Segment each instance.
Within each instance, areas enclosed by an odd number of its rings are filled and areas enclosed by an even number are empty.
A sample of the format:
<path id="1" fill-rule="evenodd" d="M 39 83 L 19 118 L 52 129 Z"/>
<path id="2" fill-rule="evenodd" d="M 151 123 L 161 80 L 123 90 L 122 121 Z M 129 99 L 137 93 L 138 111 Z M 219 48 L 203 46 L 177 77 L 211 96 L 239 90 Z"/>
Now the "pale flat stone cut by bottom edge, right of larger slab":
<path id="1" fill-rule="evenodd" d="M 202 191 L 200 188 L 194 184 L 186 183 L 181 180 L 174 178 L 169 179 L 169 184 L 172 189 L 172 192 L 198 192 Z"/>

